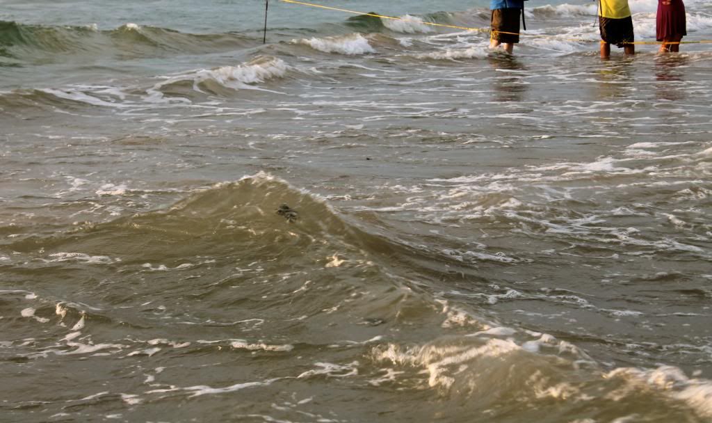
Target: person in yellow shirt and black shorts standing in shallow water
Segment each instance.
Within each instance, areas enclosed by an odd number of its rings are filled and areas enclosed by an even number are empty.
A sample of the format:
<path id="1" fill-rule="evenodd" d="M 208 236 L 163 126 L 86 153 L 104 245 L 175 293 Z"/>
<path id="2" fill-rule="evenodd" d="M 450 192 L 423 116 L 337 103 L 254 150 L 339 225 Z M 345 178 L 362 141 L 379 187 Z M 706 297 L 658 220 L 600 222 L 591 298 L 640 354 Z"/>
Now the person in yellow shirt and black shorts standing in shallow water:
<path id="1" fill-rule="evenodd" d="M 601 31 L 601 58 L 611 56 L 611 44 L 635 54 L 633 18 L 628 0 L 599 0 L 598 22 Z"/>

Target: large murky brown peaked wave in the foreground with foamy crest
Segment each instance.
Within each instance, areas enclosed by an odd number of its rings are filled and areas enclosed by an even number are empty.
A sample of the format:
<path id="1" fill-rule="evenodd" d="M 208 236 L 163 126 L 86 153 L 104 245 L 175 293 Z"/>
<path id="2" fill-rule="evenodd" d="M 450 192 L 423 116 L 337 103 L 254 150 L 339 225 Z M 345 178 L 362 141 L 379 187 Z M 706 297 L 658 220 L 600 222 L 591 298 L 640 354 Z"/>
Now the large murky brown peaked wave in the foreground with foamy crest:
<path id="1" fill-rule="evenodd" d="M 626 421 L 637 418 L 629 406 L 638 403 L 649 404 L 650 421 L 712 415 L 708 380 L 671 366 L 608 367 L 567 340 L 496 323 L 482 308 L 443 297 L 448 285 L 438 276 L 458 266 L 455 257 L 370 225 L 261 173 L 164 209 L 6 239 L 14 254 L 1 258 L 4 278 L 11 286 L 31 278 L 41 293 L 0 291 L 12 299 L 0 308 L 13 316 L 11 330 L 41 336 L 3 346 L 38 366 L 70 357 L 111 368 L 141 360 L 157 368 L 142 376 L 146 383 L 167 358 L 214 361 L 229 352 L 260 371 L 282 366 L 278 377 L 221 385 L 182 386 L 169 375 L 150 389 L 128 385 L 121 399 L 137 407 L 289 381 L 327 388 L 337 379 L 358 390 L 427 395 L 475 422 L 521 408 L 542 422 Z M 73 281 L 72 298 L 41 288 L 56 283 L 58 271 Z M 474 274 L 468 283 L 478 283 Z M 97 371 L 91 385 L 105 380 Z"/>

